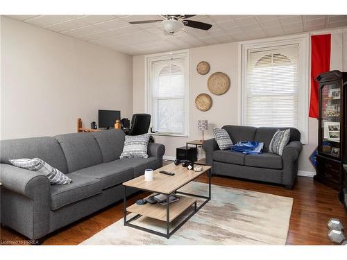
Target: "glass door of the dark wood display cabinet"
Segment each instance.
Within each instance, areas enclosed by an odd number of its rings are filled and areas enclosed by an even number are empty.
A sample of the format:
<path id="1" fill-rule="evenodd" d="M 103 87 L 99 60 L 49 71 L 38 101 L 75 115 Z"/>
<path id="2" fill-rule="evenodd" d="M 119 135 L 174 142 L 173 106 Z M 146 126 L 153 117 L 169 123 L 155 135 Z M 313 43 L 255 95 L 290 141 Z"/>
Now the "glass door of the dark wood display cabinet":
<path id="1" fill-rule="evenodd" d="M 337 84 L 321 87 L 321 153 L 340 157 L 341 89 Z"/>

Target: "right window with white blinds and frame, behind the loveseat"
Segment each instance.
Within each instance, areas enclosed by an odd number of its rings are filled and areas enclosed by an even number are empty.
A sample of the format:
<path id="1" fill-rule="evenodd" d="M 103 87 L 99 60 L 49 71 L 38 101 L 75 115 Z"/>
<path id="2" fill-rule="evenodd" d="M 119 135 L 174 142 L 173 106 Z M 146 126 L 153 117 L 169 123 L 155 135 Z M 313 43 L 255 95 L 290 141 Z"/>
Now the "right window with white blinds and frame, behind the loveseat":
<path id="1" fill-rule="evenodd" d="M 308 141 L 309 37 L 244 42 L 241 123 L 293 127 Z"/>

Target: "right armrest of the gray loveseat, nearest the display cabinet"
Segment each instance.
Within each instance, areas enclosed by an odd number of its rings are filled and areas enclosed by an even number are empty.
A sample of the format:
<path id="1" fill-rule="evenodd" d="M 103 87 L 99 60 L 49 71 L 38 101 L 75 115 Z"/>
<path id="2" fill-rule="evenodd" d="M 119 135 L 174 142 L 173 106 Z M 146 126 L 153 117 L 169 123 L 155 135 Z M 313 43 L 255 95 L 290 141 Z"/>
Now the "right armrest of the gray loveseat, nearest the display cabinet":
<path id="1" fill-rule="evenodd" d="M 300 141 L 291 141 L 283 149 L 283 184 L 287 189 L 293 187 L 296 175 L 298 175 L 298 158 L 303 149 Z"/>

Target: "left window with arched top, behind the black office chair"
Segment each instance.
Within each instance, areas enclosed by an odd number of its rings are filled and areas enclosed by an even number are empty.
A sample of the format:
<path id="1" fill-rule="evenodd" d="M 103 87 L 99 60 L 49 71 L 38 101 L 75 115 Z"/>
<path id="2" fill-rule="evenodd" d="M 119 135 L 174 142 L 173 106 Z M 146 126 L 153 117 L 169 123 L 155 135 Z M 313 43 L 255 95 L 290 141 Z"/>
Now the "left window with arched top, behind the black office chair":
<path id="1" fill-rule="evenodd" d="M 188 53 L 147 57 L 147 112 L 159 135 L 187 136 L 189 130 Z"/>

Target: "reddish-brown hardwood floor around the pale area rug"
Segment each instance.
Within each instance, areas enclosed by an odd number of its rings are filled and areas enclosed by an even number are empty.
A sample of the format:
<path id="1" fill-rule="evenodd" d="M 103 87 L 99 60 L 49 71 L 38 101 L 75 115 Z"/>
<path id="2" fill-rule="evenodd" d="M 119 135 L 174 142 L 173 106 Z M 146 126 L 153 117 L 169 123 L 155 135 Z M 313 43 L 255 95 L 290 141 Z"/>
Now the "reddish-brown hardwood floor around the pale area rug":
<path id="1" fill-rule="evenodd" d="M 292 190 L 270 184 L 219 176 L 212 177 L 212 184 L 294 198 L 287 244 L 332 245 L 328 239 L 328 220 L 332 217 L 339 218 L 342 224 L 347 227 L 347 214 L 337 198 L 337 191 L 314 182 L 311 177 L 298 177 L 297 179 Z M 197 181 L 208 182 L 208 178 L 203 175 Z M 145 193 L 136 194 L 130 198 L 129 203 L 144 196 Z M 78 243 L 121 219 L 122 215 L 122 202 L 117 202 L 115 205 L 50 234 L 44 241 L 44 245 L 78 245 Z M 26 240 L 24 236 L 8 227 L 1 227 L 0 239 L 1 241 Z"/>

